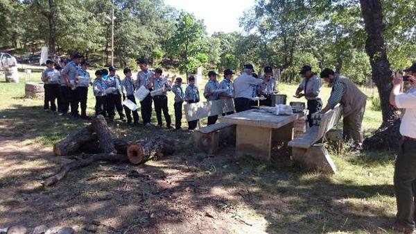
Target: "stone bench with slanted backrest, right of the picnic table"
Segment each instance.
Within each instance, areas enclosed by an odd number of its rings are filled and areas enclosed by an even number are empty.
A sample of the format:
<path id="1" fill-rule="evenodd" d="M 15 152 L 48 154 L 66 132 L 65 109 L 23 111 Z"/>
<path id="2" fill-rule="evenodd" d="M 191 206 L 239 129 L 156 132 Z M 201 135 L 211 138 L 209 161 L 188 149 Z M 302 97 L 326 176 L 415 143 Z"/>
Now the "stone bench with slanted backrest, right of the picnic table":
<path id="1" fill-rule="evenodd" d="M 331 128 L 338 124 L 342 108 L 336 107 L 333 110 L 320 116 L 320 121 L 309 128 L 306 133 L 291 140 L 288 143 L 292 147 L 292 157 L 297 164 L 305 169 L 317 170 L 326 173 L 336 173 L 336 166 L 329 156 L 323 144 L 315 144 L 324 137 Z M 312 115 L 318 117 L 318 115 Z"/>

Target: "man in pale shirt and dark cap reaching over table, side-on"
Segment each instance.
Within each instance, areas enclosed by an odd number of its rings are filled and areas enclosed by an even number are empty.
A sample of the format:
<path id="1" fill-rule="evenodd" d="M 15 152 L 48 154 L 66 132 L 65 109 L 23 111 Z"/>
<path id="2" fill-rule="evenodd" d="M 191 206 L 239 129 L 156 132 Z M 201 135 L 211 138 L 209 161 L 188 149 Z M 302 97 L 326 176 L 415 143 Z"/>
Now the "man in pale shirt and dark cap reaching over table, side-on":
<path id="1" fill-rule="evenodd" d="M 234 80 L 234 106 L 236 107 L 236 112 L 250 110 L 252 85 L 264 83 L 262 79 L 254 78 L 252 76 L 253 72 L 253 65 L 244 65 L 243 72 Z"/>

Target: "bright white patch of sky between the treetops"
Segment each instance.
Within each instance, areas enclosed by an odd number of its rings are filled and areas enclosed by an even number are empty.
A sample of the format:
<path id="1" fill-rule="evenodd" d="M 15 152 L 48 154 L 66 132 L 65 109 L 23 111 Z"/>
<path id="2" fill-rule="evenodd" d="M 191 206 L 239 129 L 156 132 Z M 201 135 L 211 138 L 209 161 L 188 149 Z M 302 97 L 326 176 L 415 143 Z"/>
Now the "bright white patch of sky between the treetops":
<path id="1" fill-rule="evenodd" d="M 254 6 L 254 0 L 165 0 L 166 4 L 203 19 L 207 33 L 241 31 L 239 18 Z"/>

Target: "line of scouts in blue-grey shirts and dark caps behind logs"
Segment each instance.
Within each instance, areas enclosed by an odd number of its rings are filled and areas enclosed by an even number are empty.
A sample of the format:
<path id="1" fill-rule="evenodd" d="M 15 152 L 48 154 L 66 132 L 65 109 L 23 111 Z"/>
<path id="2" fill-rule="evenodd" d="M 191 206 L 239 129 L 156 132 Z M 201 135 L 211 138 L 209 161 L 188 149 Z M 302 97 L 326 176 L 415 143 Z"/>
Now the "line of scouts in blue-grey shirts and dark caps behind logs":
<path id="1" fill-rule="evenodd" d="M 140 71 L 137 78 L 133 78 L 132 69 L 125 67 L 123 74 L 125 78 L 121 79 L 116 75 L 116 69 L 109 67 L 107 69 L 99 69 L 95 72 L 95 79 L 92 81 L 89 72 L 87 72 L 89 63 L 83 60 L 83 56 L 76 53 L 69 62 L 61 62 L 55 65 L 52 60 L 46 61 L 47 68 L 42 72 L 42 81 L 44 82 L 44 111 L 59 112 L 60 115 L 71 115 L 73 119 L 90 119 L 87 116 L 87 93 L 88 87 L 92 85 L 94 97 L 96 98 L 95 115 L 103 115 L 110 122 L 114 121 L 115 110 L 119 113 L 119 117 L 123 122 L 128 124 L 139 124 L 139 114 L 137 109 L 131 110 L 128 106 L 123 105 L 126 99 L 136 104 L 135 92 L 139 87 L 144 86 L 147 90 L 162 90 L 162 92 L 151 95 L 150 93 L 140 101 L 141 117 L 144 126 L 153 126 L 151 123 L 152 105 L 154 102 L 157 125 L 162 126 L 162 112 L 166 121 L 166 127 L 171 128 L 171 116 L 168 113 L 168 97 L 167 92 L 172 91 L 175 94 L 173 108 L 175 110 L 175 128 L 180 129 L 182 123 L 182 104 L 198 103 L 200 101 L 200 93 L 196 85 L 195 77 L 189 76 L 185 92 L 182 89 L 182 78 L 173 76 L 171 82 L 168 77 L 162 75 L 162 69 L 148 69 L 146 60 L 137 60 Z M 271 106 L 271 94 L 275 91 L 275 78 L 272 77 L 272 68 L 265 67 L 265 74 L 261 78 L 257 78 L 254 74 L 252 65 L 245 65 L 241 76 L 236 79 L 239 81 L 242 77 L 248 76 L 246 70 L 250 70 L 252 82 L 248 87 L 239 82 L 233 83 L 232 77 L 234 72 L 232 69 L 225 69 L 223 81 L 218 83 L 218 74 L 214 71 L 208 72 L 209 81 L 205 85 L 204 97 L 208 100 L 217 99 L 239 99 L 240 90 L 243 89 L 244 94 L 250 94 L 248 99 L 250 103 L 239 105 L 236 103 L 236 111 L 250 109 L 252 98 L 259 95 L 266 97 L 261 101 L 261 105 Z M 252 76 L 253 75 L 253 76 Z M 220 91 L 220 92 L 218 92 Z M 243 97 L 242 96 L 242 97 Z M 245 96 L 244 96 L 245 97 Z M 55 105 L 58 101 L 58 108 Z M 70 107 L 70 108 L 69 108 Z M 81 108 L 80 114 L 78 108 Z M 123 107 L 124 112 L 123 113 Z M 70 110 L 70 112 L 69 112 Z M 224 115 L 230 115 L 234 112 L 228 112 Z M 215 124 L 218 116 L 208 117 L 208 125 Z M 198 120 L 188 122 L 189 130 L 196 128 Z"/>

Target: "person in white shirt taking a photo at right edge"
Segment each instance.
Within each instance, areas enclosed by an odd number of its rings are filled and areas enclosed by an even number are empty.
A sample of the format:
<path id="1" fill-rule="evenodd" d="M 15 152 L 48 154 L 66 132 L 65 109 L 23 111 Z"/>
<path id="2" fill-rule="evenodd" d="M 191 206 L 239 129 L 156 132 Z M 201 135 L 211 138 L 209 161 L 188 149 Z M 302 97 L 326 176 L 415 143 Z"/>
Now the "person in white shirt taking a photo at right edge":
<path id="1" fill-rule="evenodd" d="M 416 63 L 404 71 L 408 76 L 393 74 L 393 88 L 390 92 L 390 104 L 405 109 L 400 124 L 403 140 L 395 163 L 397 215 L 393 229 L 413 233 L 416 197 Z M 404 80 L 411 86 L 406 93 L 402 92 Z"/>

